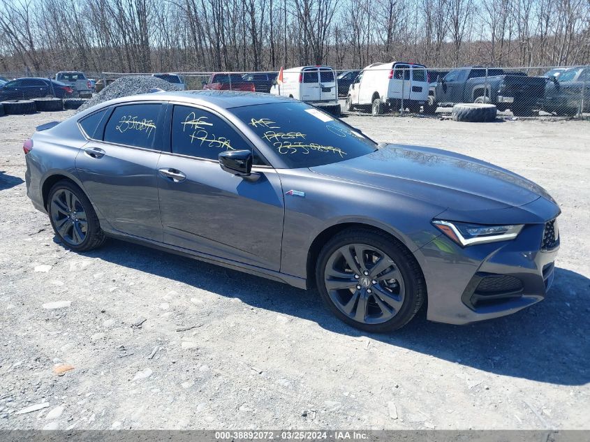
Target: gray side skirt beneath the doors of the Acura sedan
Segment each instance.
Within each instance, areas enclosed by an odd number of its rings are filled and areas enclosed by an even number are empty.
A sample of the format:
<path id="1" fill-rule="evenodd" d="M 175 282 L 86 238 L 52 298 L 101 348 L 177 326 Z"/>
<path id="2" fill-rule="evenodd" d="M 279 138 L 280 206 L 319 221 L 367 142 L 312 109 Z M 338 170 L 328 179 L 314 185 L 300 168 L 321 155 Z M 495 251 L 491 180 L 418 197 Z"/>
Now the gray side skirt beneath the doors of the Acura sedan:
<path id="1" fill-rule="evenodd" d="M 133 242 L 134 244 L 151 247 L 152 249 L 158 249 L 161 251 L 175 253 L 180 256 L 185 256 L 186 258 L 193 258 L 196 260 L 204 261 L 205 263 L 221 265 L 222 267 L 227 267 L 228 269 L 253 274 L 257 277 L 272 279 L 273 281 L 286 283 L 296 288 L 302 288 L 304 290 L 307 289 L 307 279 L 305 278 L 294 277 L 290 274 L 276 272 L 274 270 L 268 270 L 263 267 L 257 267 L 256 265 L 239 263 L 234 260 L 220 258 L 219 256 L 209 255 L 207 253 L 201 253 L 189 249 L 183 249 L 182 247 L 172 246 L 170 244 L 163 244 L 161 242 L 147 240 L 145 238 L 135 237 L 133 235 L 126 235 L 125 233 L 105 231 L 105 234 L 108 237 L 112 237 L 117 240 Z"/>

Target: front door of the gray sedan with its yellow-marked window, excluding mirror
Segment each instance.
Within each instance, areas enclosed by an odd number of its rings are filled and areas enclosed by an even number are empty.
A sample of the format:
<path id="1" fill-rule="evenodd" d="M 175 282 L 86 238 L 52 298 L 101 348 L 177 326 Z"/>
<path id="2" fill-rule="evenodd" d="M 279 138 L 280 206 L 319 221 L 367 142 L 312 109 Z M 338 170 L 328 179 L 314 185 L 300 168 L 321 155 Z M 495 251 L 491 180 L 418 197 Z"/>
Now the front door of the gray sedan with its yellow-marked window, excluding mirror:
<path id="1" fill-rule="evenodd" d="M 253 149 L 219 115 L 174 105 L 171 151 L 158 162 L 164 242 L 270 270 L 281 265 L 283 191 L 255 152 L 251 177 L 221 170 L 226 150 Z M 257 164 L 258 163 L 258 164 Z"/>

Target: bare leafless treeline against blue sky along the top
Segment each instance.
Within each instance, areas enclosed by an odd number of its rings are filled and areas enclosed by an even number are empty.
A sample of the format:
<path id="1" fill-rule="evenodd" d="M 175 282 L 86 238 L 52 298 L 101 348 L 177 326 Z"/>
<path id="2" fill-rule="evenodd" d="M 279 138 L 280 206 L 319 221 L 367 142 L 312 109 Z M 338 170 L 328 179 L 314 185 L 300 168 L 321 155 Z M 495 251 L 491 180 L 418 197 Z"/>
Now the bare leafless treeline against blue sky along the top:
<path id="1" fill-rule="evenodd" d="M 590 0 L 0 0 L 0 71 L 590 64 Z"/>

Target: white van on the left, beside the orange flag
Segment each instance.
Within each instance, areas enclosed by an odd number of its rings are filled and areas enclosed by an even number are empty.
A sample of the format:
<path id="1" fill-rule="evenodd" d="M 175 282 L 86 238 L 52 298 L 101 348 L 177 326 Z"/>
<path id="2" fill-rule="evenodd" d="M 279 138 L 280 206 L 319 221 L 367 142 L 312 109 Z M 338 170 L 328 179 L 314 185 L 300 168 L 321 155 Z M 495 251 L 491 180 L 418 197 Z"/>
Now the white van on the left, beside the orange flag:
<path id="1" fill-rule="evenodd" d="M 334 115 L 340 115 L 336 76 L 329 66 L 300 66 L 283 70 L 283 84 L 274 84 L 273 95 L 290 96 Z"/>

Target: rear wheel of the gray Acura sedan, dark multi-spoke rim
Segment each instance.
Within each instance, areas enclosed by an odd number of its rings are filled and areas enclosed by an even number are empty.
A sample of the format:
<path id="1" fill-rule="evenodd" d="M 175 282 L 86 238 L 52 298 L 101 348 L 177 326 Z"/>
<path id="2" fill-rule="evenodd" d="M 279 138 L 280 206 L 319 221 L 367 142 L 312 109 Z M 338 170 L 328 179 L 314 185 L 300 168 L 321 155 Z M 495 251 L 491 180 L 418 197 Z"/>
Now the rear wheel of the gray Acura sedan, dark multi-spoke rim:
<path id="1" fill-rule="evenodd" d="M 54 184 L 49 192 L 47 212 L 55 234 L 70 249 L 88 251 L 105 242 L 94 207 L 73 182 L 64 180 Z"/>

